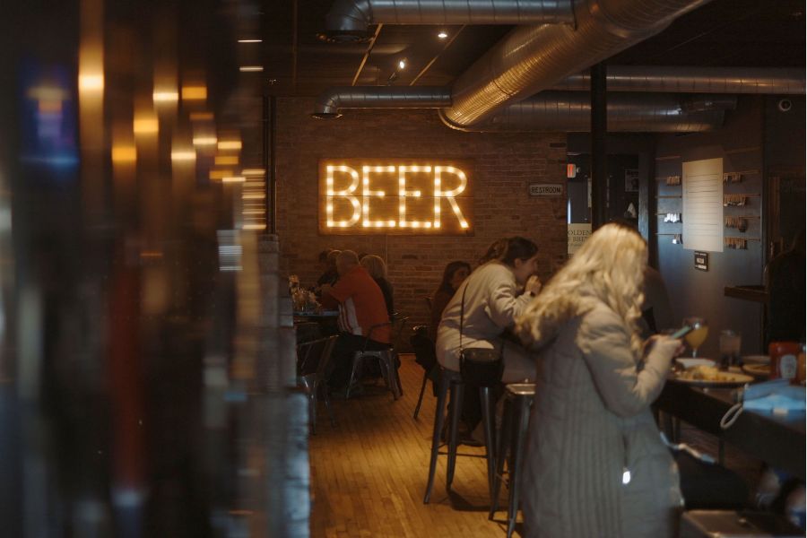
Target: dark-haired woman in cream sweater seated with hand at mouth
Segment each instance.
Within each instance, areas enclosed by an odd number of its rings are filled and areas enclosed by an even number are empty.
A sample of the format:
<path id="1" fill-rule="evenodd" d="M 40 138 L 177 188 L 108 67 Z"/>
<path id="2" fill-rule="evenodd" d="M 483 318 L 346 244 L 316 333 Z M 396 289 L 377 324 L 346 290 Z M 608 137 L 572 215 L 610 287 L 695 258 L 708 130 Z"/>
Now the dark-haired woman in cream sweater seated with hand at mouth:
<path id="1" fill-rule="evenodd" d="M 462 348 L 502 350 L 501 381 L 533 380 L 535 363 L 525 349 L 500 338 L 516 317 L 541 291 L 538 247 L 529 239 L 514 237 L 494 243 L 477 267 L 448 301 L 438 327 L 437 356 L 440 366 L 459 371 L 460 317 Z"/>

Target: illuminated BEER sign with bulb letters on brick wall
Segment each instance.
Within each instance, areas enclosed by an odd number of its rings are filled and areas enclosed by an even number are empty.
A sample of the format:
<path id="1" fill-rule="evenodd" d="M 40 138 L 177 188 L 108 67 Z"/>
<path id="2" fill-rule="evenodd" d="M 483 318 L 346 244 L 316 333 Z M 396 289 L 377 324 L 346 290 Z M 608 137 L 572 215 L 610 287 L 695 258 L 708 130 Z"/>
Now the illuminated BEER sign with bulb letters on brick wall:
<path id="1" fill-rule="evenodd" d="M 468 234 L 470 166 L 458 161 L 320 161 L 326 234 Z"/>

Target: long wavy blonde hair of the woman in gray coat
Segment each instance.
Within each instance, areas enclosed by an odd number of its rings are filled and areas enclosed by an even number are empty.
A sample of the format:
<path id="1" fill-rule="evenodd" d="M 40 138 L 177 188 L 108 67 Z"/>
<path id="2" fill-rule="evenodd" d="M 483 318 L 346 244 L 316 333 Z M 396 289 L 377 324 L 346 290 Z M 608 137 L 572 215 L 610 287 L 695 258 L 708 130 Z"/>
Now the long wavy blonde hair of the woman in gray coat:
<path id="1" fill-rule="evenodd" d="M 516 334 L 538 347 L 548 343 L 569 319 L 585 314 L 599 300 L 628 325 L 631 348 L 641 348 L 641 316 L 647 245 L 626 226 L 606 224 L 547 283 L 516 320 Z"/>

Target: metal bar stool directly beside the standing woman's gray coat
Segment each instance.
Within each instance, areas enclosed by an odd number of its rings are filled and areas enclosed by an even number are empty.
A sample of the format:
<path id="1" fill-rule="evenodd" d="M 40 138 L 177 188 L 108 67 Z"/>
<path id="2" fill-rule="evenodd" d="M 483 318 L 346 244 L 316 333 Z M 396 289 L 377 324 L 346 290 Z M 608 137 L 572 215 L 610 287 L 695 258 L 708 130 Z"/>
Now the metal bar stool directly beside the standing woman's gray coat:
<path id="1" fill-rule="evenodd" d="M 508 462 L 508 538 L 516 529 L 518 494 L 522 481 L 527 429 L 530 423 L 530 407 L 535 395 L 534 383 L 511 383 L 505 387 L 504 417 L 496 446 L 496 470 L 490 492 L 490 514 L 499 509 L 499 490 L 504 480 L 505 461 Z M 508 447 L 509 443 L 509 447 Z M 509 456 L 509 459 L 508 459 Z"/>

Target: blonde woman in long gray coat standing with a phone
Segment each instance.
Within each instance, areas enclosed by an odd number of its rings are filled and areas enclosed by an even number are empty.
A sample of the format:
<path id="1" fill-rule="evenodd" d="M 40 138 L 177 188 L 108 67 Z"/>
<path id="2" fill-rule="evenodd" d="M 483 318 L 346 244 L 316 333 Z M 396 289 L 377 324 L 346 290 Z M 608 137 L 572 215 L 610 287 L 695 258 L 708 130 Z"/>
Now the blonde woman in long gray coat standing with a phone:
<path id="1" fill-rule="evenodd" d="M 516 322 L 538 351 L 526 536 L 676 534 L 678 471 L 650 404 L 681 342 L 638 336 L 646 263 L 644 239 L 607 224 Z"/>

